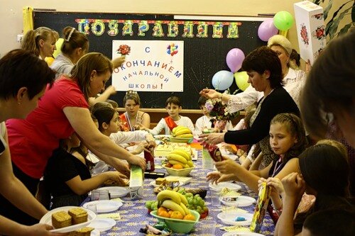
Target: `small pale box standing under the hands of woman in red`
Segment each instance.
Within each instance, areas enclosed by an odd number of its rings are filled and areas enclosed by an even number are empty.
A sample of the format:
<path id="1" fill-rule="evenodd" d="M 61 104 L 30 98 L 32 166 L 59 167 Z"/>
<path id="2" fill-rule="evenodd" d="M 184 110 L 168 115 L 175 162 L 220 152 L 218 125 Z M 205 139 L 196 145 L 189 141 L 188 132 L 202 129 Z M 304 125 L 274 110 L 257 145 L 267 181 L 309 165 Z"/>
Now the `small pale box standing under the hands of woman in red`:
<path id="1" fill-rule="evenodd" d="M 141 167 L 132 164 L 129 177 L 129 191 L 131 198 L 143 198 L 144 176 Z"/>

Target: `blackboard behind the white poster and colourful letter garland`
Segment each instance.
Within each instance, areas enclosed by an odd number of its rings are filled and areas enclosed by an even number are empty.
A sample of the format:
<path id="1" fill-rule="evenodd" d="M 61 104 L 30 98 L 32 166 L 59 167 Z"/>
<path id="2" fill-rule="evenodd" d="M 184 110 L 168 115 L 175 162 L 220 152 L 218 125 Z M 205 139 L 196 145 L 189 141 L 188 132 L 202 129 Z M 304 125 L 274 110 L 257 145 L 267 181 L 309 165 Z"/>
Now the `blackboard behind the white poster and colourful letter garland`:
<path id="1" fill-rule="evenodd" d="M 124 20 L 154 20 L 154 21 L 172 21 L 173 15 L 148 15 L 148 14 L 123 14 L 123 13 L 75 13 L 75 12 L 58 12 L 58 11 L 35 11 L 34 27 L 47 26 L 53 30 L 62 33 L 62 29 L 66 26 L 78 28 L 75 19 L 124 19 Z M 213 18 L 213 17 L 212 17 Z M 239 38 L 226 38 L 228 26 L 223 26 L 224 38 L 182 38 L 178 35 L 174 40 L 184 40 L 185 57 L 184 57 L 184 91 L 182 93 L 172 92 L 144 92 L 138 94 L 141 97 L 143 108 L 164 108 L 165 100 L 169 96 L 179 96 L 182 102 L 182 108 L 196 109 L 198 92 L 203 88 L 212 88 L 213 75 L 222 70 L 229 68 L 226 65 L 226 54 L 234 47 L 243 50 L 247 55 L 256 47 L 265 45 L 266 43 L 258 38 L 258 26 L 262 21 L 238 21 Z M 179 31 L 183 30 L 183 26 L 179 25 Z M 194 26 L 196 30 L 197 26 Z M 212 26 L 208 26 L 212 31 Z M 168 26 L 163 25 L 166 32 Z M 133 31 L 138 32 L 138 25 L 133 24 Z M 120 33 L 114 37 L 104 33 L 96 36 L 90 33 L 88 35 L 90 52 L 102 52 L 111 58 L 112 40 L 171 40 L 171 38 L 156 38 L 149 32 L 145 37 L 139 37 L 134 34 L 131 36 L 122 36 Z M 111 81 L 108 82 L 111 84 Z M 231 91 L 236 91 L 235 82 L 231 86 Z M 124 92 L 118 92 L 111 99 L 117 101 L 119 106 L 123 106 Z"/>

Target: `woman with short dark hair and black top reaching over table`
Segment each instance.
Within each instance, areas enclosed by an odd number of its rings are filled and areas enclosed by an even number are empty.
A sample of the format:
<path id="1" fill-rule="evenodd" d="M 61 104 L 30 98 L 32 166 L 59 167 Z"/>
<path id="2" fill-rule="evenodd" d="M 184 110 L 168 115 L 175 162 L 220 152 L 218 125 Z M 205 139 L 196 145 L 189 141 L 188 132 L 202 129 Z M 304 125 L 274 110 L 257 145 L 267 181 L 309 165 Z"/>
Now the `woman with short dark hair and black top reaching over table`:
<path id="1" fill-rule="evenodd" d="M 260 145 L 263 152 L 263 166 L 267 167 L 277 156 L 268 142 L 271 119 L 278 113 L 300 115 L 295 101 L 283 88 L 283 77 L 278 55 L 268 47 L 258 47 L 246 56 L 242 68 L 249 74 L 248 82 L 256 91 L 263 92 L 255 113 L 251 117 L 250 128 L 200 135 L 206 142 L 218 144 L 227 142 L 236 145 Z"/>

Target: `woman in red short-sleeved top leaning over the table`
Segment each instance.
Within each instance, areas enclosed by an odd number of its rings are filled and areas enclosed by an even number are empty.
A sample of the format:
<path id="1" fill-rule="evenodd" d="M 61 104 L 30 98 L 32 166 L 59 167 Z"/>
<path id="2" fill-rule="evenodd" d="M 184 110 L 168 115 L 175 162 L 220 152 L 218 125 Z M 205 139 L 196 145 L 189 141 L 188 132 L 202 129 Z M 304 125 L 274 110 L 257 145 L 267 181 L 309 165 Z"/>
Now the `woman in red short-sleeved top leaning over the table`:
<path id="1" fill-rule="evenodd" d="M 71 77 L 62 75 L 26 120 L 8 120 L 9 145 L 14 169 L 21 178 L 28 179 L 26 186 L 34 195 L 37 184 L 53 150 L 59 147 L 59 140 L 65 139 L 75 131 L 84 145 L 118 171 L 126 174 L 129 167 L 123 162 L 138 164 L 145 169 L 146 162 L 141 157 L 130 154 L 102 135 L 92 121 L 88 99 L 99 91 L 111 77 L 112 63 L 101 53 L 84 55 L 75 64 Z M 14 210 L 9 203 L 0 202 L 1 209 L 11 215 Z M 29 220 L 21 215 L 19 219 Z"/>

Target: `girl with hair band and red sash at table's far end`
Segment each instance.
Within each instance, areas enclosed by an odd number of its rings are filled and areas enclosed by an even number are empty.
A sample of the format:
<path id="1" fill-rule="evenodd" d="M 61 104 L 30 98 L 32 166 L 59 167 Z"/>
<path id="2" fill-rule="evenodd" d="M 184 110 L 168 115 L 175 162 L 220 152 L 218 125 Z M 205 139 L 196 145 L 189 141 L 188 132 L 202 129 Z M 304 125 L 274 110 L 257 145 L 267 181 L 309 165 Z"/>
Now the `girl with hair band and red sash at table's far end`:
<path id="1" fill-rule="evenodd" d="M 134 131 L 136 128 L 143 125 L 143 127 L 151 127 L 151 116 L 148 113 L 139 111 L 141 106 L 141 99 L 136 91 L 129 90 L 124 96 L 124 108 L 126 112 L 120 115 L 122 120 L 122 131 Z"/>

